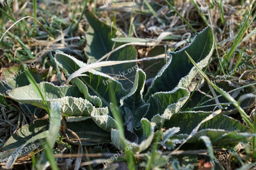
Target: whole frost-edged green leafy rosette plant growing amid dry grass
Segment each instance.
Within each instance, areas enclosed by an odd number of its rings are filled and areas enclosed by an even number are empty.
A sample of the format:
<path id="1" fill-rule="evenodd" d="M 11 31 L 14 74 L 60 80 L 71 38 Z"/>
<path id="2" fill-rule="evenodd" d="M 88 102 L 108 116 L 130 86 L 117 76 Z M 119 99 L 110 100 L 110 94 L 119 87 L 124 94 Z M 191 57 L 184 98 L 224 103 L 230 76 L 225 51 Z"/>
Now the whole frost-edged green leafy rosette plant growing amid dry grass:
<path id="1" fill-rule="evenodd" d="M 33 85 L 6 92 L 9 98 L 30 107 L 47 109 L 51 102 L 60 102 L 65 128 L 71 129 L 79 137 L 79 140 L 76 139 L 73 133 L 64 129 L 63 134 L 69 143 L 86 146 L 112 142 L 117 149 L 123 150 L 125 145 L 119 130 L 124 130 L 125 143 L 136 143 L 133 152 L 140 153 L 150 146 L 154 137 L 161 138 L 160 143 L 164 148 L 171 150 L 184 141 L 200 143 L 203 139 L 212 144 L 235 144 L 252 136 L 250 129 L 228 116 L 231 112 L 214 113 L 203 107 L 203 111 L 181 111 L 190 96 L 188 87 L 198 74 L 198 68 L 190 62 L 188 55 L 200 69 L 206 67 L 211 59 L 214 36 L 210 26 L 198 33 L 187 47 L 169 52 L 166 64 L 146 87 L 147 75 L 141 69 L 131 72 L 129 80 L 116 80 L 109 76 L 134 67 L 137 64 L 136 49 L 124 46 L 111 53 L 108 58 L 110 62 L 104 65 L 106 62 L 102 62 L 101 57 L 112 51 L 114 43 L 117 48 L 122 43 L 111 40 L 116 38 L 116 29 L 100 22 L 89 11 L 86 18 L 90 24 L 84 49 L 87 63 L 62 52 L 56 53 L 54 58 L 57 70 L 62 70 L 68 78 L 66 84 L 63 83 L 65 85 L 38 83 L 44 100 Z M 118 61 L 125 62 L 116 64 Z M 60 72 L 57 74 L 60 75 Z M 110 88 L 113 93 L 109 93 Z M 111 102 L 111 95 L 116 97 L 117 105 Z M 119 125 L 113 117 L 115 109 L 122 118 L 123 129 L 118 129 Z M 47 130 L 48 123 L 39 119 L 25 125 L 4 144 L 2 150 L 17 149 L 29 138 Z M 163 133 L 161 129 L 158 130 L 159 127 L 166 131 Z M 11 152 L 4 152 L 2 156 L 8 154 Z"/>

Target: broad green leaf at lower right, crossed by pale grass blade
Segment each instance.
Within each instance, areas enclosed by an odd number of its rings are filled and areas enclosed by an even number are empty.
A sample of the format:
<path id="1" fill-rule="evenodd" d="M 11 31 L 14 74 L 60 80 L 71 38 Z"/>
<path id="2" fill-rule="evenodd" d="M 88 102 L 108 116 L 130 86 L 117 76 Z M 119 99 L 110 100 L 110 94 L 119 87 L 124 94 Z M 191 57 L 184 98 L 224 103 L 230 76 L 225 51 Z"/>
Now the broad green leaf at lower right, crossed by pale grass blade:
<path id="1" fill-rule="evenodd" d="M 198 122 L 203 121 L 212 112 L 180 112 L 172 115 L 170 120 L 164 122 L 165 128 L 179 127 L 177 135 L 189 135 L 196 128 Z M 234 133 L 234 135 L 231 135 Z M 237 135 L 236 135 L 237 134 Z M 254 134 L 239 121 L 226 115 L 218 114 L 202 123 L 197 132 L 188 139 L 187 143 L 195 143 L 201 136 L 208 136 L 212 144 L 231 144 L 249 139 Z M 225 143 L 224 143 L 225 142 Z M 172 143 L 171 143 L 172 144 Z"/>

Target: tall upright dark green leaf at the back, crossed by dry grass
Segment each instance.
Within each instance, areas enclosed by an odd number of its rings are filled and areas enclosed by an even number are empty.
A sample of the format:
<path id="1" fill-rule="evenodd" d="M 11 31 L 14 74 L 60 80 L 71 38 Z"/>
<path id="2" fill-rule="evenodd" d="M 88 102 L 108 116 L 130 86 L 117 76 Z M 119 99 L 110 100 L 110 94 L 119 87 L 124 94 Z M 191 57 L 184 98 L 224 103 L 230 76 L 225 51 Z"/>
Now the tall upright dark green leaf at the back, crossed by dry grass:
<path id="1" fill-rule="evenodd" d="M 100 21 L 92 12 L 86 11 L 85 16 L 87 21 L 89 22 L 89 28 L 86 31 L 86 47 L 84 49 L 85 54 L 88 57 L 87 64 L 95 63 L 102 56 L 106 55 L 108 52 L 112 51 L 112 48 L 116 48 L 122 43 L 116 42 L 114 43 L 111 39 L 116 38 L 116 29 L 104 24 Z M 108 56 L 108 61 L 123 61 L 123 60 L 134 60 L 136 59 L 137 51 L 133 46 L 126 46 L 117 50 Z M 118 64 L 108 67 L 101 67 L 99 70 L 102 73 L 108 74 L 110 76 L 120 76 L 120 82 L 124 86 L 125 89 L 129 90 L 132 86 L 131 81 L 134 81 L 135 69 L 133 69 L 130 73 L 128 69 L 132 69 L 137 67 L 137 63 L 125 63 Z M 130 80 L 128 80 L 128 79 Z"/>

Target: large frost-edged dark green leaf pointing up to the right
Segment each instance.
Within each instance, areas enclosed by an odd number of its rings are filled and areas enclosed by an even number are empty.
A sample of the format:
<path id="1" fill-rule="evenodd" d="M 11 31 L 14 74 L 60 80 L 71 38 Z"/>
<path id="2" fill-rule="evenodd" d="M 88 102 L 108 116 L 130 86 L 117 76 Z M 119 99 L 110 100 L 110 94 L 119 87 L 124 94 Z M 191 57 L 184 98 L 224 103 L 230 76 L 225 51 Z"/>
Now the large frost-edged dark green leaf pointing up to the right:
<path id="1" fill-rule="evenodd" d="M 151 94 L 165 92 L 175 87 L 187 88 L 198 70 L 187 59 L 185 50 L 193 57 L 198 66 L 204 67 L 208 63 L 213 52 L 212 28 L 207 27 L 187 47 L 177 52 L 170 52 L 171 58 L 153 79 L 144 100 L 148 100 Z"/>

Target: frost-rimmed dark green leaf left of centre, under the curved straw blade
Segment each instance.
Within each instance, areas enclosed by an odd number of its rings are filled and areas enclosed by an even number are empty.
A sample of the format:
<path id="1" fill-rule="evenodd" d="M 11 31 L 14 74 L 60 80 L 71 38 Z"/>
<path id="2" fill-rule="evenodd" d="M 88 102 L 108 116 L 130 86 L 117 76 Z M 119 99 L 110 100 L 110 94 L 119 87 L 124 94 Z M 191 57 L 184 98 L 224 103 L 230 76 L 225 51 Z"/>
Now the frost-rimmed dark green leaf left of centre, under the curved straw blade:
<path id="1" fill-rule="evenodd" d="M 80 67 L 86 65 L 85 63 L 77 60 L 75 57 L 72 57 L 67 54 L 57 53 L 55 55 L 55 60 L 56 60 L 56 63 L 60 66 L 60 68 L 67 70 L 67 72 L 65 73 L 66 76 L 69 76 L 69 74 L 72 74 L 73 72 L 78 70 Z M 120 100 L 123 96 L 125 96 L 128 93 L 123 88 L 120 82 L 118 82 L 115 79 L 111 79 L 111 77 L 106 74 L 103 74 L 93 69 L 84 74 L 88 76 L 81 76 L 79 78 L 84 82 L 84 84 L 88 88 L 88 92 L 91 95 L 95 95 L 99 97 L 100 100 L 103 101 L 104 106 L 109 105 L 108 83 L 111 83 L 113 88 L 115 89 L 115 95 L 117 100 Z M 73 83 L 78 84 L 77 82 L 74 82 L 74 81 Z M 86 97 L 87 99 L 91 98 L 90 99 L 91 101 L 97 100 L 97 102 L 99 102 L 98 99 L 96 99 L 96 97 L 94 98 L 90 97 L 89 93 L 87 93 L 87 89 L 84 89 L 85 96 L 88 96 Z"/>

